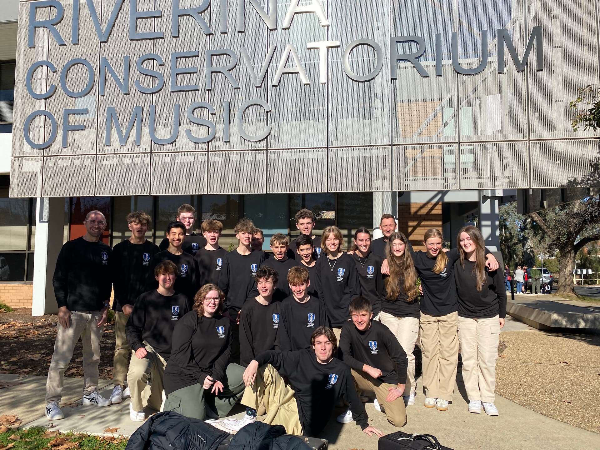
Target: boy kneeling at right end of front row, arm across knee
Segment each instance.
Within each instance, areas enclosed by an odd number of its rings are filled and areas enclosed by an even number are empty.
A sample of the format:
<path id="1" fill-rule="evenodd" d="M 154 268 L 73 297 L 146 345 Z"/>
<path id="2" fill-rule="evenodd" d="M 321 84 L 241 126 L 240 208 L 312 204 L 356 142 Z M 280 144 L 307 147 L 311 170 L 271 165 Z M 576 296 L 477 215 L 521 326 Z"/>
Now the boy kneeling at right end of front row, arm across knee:
<path id="1" fill-rule="evenodd" d="M 349 310 L 352 323 L 348 322 L 341 331 L 340 349 L 343 361 L 352 367 L 356 389 L 375 392 L 375 409 L 384 411 L 394 427 L 404 427 L 406 409 L 402 394 L 408 365 L 406 353 L 388 327 L 371 320 L 370 301 L 355 297 Z M 350 409 L 338 416 L 337 421 L 351 422 Z"/>

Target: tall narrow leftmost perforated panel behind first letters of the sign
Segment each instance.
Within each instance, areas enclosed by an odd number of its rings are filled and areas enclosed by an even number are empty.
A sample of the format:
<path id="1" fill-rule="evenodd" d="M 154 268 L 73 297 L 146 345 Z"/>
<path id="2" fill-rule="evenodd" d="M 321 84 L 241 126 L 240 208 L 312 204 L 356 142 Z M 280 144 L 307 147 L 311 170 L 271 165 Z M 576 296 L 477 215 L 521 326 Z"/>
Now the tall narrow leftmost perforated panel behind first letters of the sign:
<path id="1" fill-rule="evenodd" d="M 49 11 L 38 9 L 37 20 L 49 19 Z M 43 155 L 42 149 L 31 148 L 23 137 L 23 127 L 29 113 L 46 108 L 46 100 L 34 100 L 27 92 L 26 74 L 36 61 L 47 59 L 48 30 L 38 28 L 35 31 L 35 47 L 27 46 L 29 3 L 19 4 L 19 25 L 17 25 L 17 59 L 14 74 L 14 111 L 13 111 L 13 156 Z M 31 86 L 41 94 L 46 91 L 47 68 L 38 68 L 32 77 Z M 35 143 L 44 142 L 44 117 L 38 116 L 29 127 L 29 136 Z M 20 167 L 20 166 L 16 166 Z"/>

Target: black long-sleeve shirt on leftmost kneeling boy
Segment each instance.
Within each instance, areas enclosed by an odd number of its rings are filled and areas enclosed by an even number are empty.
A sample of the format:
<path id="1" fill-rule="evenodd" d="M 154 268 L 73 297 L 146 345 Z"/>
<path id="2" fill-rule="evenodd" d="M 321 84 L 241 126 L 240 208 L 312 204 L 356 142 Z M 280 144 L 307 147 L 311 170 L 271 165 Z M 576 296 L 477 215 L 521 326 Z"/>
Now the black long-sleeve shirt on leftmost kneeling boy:
<path id="1" fill-rule="evenodd" d="M 161 295 L 151 290 L 140 295 L 125 325 L 125 335 L 135 352 L 146 341 L 164 359 L 171 355 L 173 328 L 190 311 L 190 301 L 183 294 Z"/>

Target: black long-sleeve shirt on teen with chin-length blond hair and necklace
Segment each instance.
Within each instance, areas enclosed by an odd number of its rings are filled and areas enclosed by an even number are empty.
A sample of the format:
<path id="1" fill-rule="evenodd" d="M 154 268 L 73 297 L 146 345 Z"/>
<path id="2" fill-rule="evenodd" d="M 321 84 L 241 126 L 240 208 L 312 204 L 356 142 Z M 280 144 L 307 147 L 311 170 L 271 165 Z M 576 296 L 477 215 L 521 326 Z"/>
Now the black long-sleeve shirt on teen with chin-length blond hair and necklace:
<path id="1" fill-rule="evenodd" d="M 347 253 L 337 260 L 323 255 L 317 260 L 316 272 L 319 299 L 325 303 L 331 326 L 343 326 L 350 319 L 350 301 L 361 295 L 354 260 Z"/>

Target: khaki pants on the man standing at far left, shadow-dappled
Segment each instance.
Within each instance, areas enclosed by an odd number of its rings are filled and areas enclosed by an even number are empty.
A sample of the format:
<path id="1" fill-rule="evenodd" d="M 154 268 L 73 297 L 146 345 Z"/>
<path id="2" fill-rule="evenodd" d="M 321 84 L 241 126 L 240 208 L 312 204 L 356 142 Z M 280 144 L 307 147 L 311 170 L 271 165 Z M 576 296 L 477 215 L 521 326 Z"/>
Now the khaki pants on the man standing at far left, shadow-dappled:
<path id="1" fill-rule="evenodd" d="M 73 358 L 73 350 L 80 337 L 83 345 L 83 394 L 91 394 L 98 389 L 100 340 L 104 325 L 97 326 L 97 323 L 101 319 L 100 311 L 71 311 L 69 328 L 56 324 L 58 334 L 46 381 L 46 404 L 61 401 L 65 369 Z"/>

